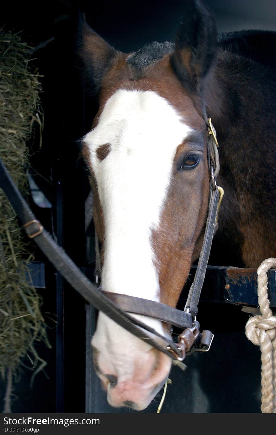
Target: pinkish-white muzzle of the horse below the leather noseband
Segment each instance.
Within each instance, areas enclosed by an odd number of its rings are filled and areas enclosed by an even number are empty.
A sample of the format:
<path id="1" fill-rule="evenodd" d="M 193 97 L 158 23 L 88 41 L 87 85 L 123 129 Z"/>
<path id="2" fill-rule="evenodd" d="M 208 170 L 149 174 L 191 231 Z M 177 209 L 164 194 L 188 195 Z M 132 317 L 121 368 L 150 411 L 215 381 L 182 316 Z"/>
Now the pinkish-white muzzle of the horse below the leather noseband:
<path id="1" fill-rule="evenodd" d="M 96 374 L 107 391 L 108 403 L 115 408 L 145 409 L 169 375 L 171 358 L 143 342 L 141 345 L 143 348 L 137 349 L 131 341 L 125 342 L 127 351 L 115 352 L 92 341 Z"/>

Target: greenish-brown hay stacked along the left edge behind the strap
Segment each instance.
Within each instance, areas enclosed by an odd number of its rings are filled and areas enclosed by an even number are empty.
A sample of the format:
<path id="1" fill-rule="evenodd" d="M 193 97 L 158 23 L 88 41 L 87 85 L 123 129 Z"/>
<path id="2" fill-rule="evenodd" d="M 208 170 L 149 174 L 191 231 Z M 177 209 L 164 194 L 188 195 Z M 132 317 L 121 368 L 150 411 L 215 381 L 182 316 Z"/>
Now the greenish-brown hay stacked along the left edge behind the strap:
<path id="1" fill-rule="evenodd" d="M 40 76 L 30 68 L 30 47 L 18 34 L 0 29 L 0 156 L 21 192 L 27 193 L 29 147 L 36 128 L 41 132 Z M 40 134 L 41 142 L 41 134 Z M 17 217 L 0 189 L 0 372 L 11 384 L 26 357 L 30 368 L 46 364 L 35 343 L 47 340 L 40 311 L 42 299 L 26 279 L 32 259 L 22 241 Z M 26 362 L 26 361 L 25 361 Z M 6 394 L 6 412 L 9 395 Z"/>

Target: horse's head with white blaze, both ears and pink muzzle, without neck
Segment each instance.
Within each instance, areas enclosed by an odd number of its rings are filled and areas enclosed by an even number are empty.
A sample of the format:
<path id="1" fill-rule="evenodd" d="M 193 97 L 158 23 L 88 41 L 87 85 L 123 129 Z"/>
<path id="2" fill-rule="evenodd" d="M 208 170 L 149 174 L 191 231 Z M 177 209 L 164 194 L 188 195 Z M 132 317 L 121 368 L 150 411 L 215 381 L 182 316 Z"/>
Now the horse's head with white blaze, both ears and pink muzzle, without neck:
<path id="1" fill-rule="evenodd" d="M 125 54 L 84 21 L 79 54 L 99 98 L 83 138 L 104 290 L 175 307 L 203 241 L 209 196 L 202 91 L 216 57 L 216 27 L 186 4 L 173 43 Z M 170 325 L 141 318 L 163 335 Z M 100 312 L 94 365 L 110 405 L 146 408 L 171 360 Z"/>

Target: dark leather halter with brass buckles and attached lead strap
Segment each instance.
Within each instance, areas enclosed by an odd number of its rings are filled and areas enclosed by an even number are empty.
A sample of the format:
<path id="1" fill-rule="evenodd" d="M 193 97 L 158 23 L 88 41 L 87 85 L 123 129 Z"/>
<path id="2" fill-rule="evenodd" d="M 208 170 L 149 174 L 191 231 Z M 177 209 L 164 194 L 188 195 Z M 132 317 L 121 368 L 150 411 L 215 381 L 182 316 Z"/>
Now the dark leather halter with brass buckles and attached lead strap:
<path id="1" fill-rule="evenodd" d="M 195 318 L 215 232 L 219 204 L 223 196 L 223 190 L 216 186 L 216 176 L 219 172 L 218 144 L 216 132 L 210 118 L 208 119 L 207 126 L 209 132 L 207 149 L 210 171 L 209 211 L 203 247 L 195 279 L 189 291 L 185 311 L 171 308 L 159 302 L 102 291 L 92 284 L 68 257 L 66 252 L 53 241 L 52 236 L 43 228 L 40 222 L 36 220 L 27 202 L 13 183 L 6 167 L 0 160 L 0 187 L 5 192 L 14 211 L 23 223 L 23 228 L 28 237 L 34 239 L 57 271 L 97 310 L 103 311 L 104 314 L 131 334 L 136 335 L 136 337 L 146 341 L 146 343 L 176 361 L 183 361 L 186 353 L 196 350 L 209 350 L 213 338 L 213 335 L 209 331 L 203 331 L 200 334 L 199 323 Z M 178 343 L 159 334 L 153 328 L 131 316 L 129 312 L 154 317 L 160 321 L 183 328 L 183 333 L 178 337 Z"/>

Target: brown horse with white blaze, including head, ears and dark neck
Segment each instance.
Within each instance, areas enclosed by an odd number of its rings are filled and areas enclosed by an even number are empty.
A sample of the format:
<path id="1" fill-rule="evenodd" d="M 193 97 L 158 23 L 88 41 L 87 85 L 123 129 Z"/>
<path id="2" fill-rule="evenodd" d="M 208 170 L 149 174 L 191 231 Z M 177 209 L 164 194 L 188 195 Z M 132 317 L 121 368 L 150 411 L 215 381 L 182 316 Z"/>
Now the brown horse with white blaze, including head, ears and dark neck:
<path id="1" fill-rule="evenodd" d="M 256 268 L 276 256 L 276 82 L 273 32 L 217 35 L 200 0 L 184 3 L 175 43 L 111 47 L 80 17 L 77 51 L 98 112 L 83 137 L 100 241 L 101 287 L 176 307 L 199 258 L 210 173 L 206 114 L 224 189 L 211 263 Z M 256 48 L 254 46 L 256 44 Z M 133 315 L 170 337 L 170 325 Z M 102 312 L 92 338 L 113 407 L 143 410 L 171 359 Z"/>

